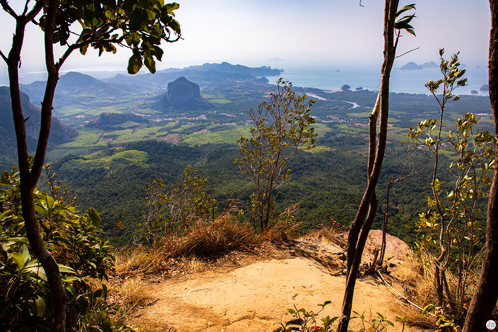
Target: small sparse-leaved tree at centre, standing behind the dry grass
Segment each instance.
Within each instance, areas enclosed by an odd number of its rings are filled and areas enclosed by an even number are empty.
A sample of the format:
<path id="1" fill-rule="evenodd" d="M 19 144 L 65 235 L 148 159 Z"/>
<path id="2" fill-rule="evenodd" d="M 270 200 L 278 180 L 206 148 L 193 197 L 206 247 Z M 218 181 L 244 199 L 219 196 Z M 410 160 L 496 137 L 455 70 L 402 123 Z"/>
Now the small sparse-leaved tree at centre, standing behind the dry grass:
<path id="1" fill-rule="evenodd" d="M 297 150 L 315 146 L 317 134 L 310 127 L 315 123 L 310 115 L 315 101 L 306 101 L 307 96 L 298 96 L 291 88 L 290 82 L 279 79 L 269 101 L 249 111 L 254 123 L 250 128 L 251 138 L 243 136 L 237 141 L 241 158 L 236 158 L 234 164 L 256 186 L 250 197 L 249 218 L 261 232 L 272 218 L 273 190 L 289 178 L 287 161 Z"/>

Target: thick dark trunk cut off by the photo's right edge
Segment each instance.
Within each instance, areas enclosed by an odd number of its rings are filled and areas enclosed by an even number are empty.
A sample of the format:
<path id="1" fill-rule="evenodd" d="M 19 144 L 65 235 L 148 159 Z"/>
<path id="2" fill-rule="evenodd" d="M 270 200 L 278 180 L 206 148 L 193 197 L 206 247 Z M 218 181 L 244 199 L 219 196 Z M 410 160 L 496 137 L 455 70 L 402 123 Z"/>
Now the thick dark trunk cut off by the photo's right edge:
<path id="1" fill-rule="evenodd" d="M 490 100 L 495 117 L 495 133 L 498 135 L 498 0 L 490 0 Z M 477 281 L 470 303 L 464 332 L 485 331 L 498 299 L 498 148 L 495 154 L 495 171 L 488 201 L 488 224 L 486 227 L 486 252 L 481 275 Z"/>

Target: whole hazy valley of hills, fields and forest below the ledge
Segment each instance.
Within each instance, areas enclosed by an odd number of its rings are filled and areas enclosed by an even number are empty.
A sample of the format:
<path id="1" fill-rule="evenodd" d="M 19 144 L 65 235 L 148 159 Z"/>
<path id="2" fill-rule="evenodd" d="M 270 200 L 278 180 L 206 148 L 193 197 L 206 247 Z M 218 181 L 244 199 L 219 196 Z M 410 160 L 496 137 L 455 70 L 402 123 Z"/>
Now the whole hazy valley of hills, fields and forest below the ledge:
<path id="1" fill-rule="evenodd" d="M 60 78 L 54 115 L 77 135 L 54 144 L 46 162 L 68 192 L 78 195 L 82 210 L 92 206 L 102 213 L 103 228 L 117 244 L 127 242 L 141 220 L 145 183 L 156 178 L 165 184 L 178 181 L 189 165 L 199 168 L 209 181 L 207 192 L 216 199 L 218 213 L 233 199 L 241 205 L 249 201 L 253 189 L 233 165 L 239 156 L 236 141 L 249 136 L 248 111 L 275 89 L 271 83 L 276 77 L 269 75 L 279 71 L 227 63 L 200 67 L 154 75 L 120 74 L 105 80 L 73 72 Z M 33 82 L 21 90 L 36 105 L 43 87 L 42 82 Z M 283 210 L 301 202 L 296 220 L 303 229 L 326 225 L 331 218 L 346 225 L 356 214 L 366 183 L 368 119 L 377 93 L 293 89 L 316 100 L 311 114 L 318 137 L 314 149 L 299 152 L 291 161 L 291 179 L 275 192 L 275 204 Z M 389 154 L 379 195 L 385 192 L 389 175 L 403 168 L 399 142 L 408 128 L 438 116 L 434 98 L 423 94 L 391 93 L 390 108 Z M 8 120 L 7 109 L 2 108 L 7 114 L 2 123 Z M 467 111 L 480 114 L 480 128 L 491 128 L 489 98 L 461 96 L 448 106 L 446 129 Z M 8 169 L 14 164 L 15 150 L 10 144 L 3 151 L 1 167 Z M 417 158 L 422 165 L 429 156 Z M 408 243 L 413 240 L 411 226 L 426 209 L 428 172 L 423 170 L 392 189 L 388 231 Z M 380 206 L 374 227 L 380 226 L 381 214 Z"/>

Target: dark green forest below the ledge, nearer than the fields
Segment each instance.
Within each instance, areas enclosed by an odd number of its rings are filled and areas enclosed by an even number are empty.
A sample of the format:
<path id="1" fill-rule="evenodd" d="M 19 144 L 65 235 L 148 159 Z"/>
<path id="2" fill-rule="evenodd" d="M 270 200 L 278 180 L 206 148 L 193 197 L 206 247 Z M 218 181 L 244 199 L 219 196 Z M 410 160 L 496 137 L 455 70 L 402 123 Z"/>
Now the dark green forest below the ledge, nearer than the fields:
<path id="1" fill-rule="evenodd" d="M 325 140 L 322 138 L 320 142 L 327 144 Z M 333 144 L 341 140 L 348 144 L 347 136 L 336 137 Z M 70 192 L 79 195 L 80 208 L 95 207 L 103 214 L 108 235 L 124 241 L 141 221 L 145 183 L 155 178 L 163 179 L 165 184 L 179 181 L 189 165 L 199 168 L 199 173 L 209 181 L 206 192 L 216 199 L 218 213 L 233 199 L 247 205 L 254 189 L 233 164 L 238 155 L 238 148 L 232 144 L 201 148 L 143 141 L 88 157 L 66 156 L 52 163 L 52 169 Z M 419 157 L 419 168 L 428 162 L 425 158 Z M 402 170 L 404 154 L 399 144 L 389 146 L 385 163 L 379 180 L 379 197 L 383 197 L 389 175 L 395 177 Z M 354 218 L 363 195 L 367 181 L 365 165 L 366 155 L 355 151 L 301 152 L 289 164 L 290 181 L 274 193 L 276 205 L 283 210 L 302 201 L 296 220 L 303 222 L 304 228 L 327 225 L 331 218 L 347 224 Z M 413 226 L 418 214 L 426 210 L 429 175 L 430 170 L 424 170 L 391 188 L 388 231 L 407 242 L 413 240 L 414 233 L 406 226 Z M 381 226 L 382 204 L 374 222 L 377 228 Z M 121 226 L 115 227 L 117 224 Z"/>

